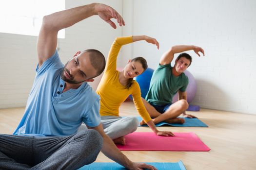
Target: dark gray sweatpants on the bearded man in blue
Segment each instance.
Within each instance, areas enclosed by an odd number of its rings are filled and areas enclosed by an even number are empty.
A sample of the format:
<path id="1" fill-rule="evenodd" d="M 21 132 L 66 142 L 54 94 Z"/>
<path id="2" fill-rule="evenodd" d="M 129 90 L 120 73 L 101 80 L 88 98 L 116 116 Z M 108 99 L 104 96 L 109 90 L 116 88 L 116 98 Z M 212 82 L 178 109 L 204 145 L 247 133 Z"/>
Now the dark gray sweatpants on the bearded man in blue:
<path id="1" fill-rule="evenodd" d="M 76 170 L 94 162 L 102 147 L 96 130 L 72 136 L 0 135 L 0 170 Z"/>

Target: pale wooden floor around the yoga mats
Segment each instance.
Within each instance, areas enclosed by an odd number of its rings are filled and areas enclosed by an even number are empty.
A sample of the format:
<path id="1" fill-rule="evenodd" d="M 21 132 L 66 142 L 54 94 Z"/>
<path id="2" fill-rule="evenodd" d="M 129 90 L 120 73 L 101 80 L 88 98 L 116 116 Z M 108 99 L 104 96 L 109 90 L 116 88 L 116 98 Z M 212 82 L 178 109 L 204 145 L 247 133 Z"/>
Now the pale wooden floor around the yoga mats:
<path id="1" fill-rule="evenodd" d="M 11 134 L 24 108 L 0 109 L 0 133 Z M 124 102 L 121 116 L 138 116 L 132 102 Z M 177 162 L 187 170 L 256 170 L 256 116 L 201 109 L 188 112 L 209 127 L 159 127 L 172 132 L 194 132 L 209 147 L 209 152 L 123 151 L 135 162 Z M 139 127 L 137 132 L 151 132 Z M 113 162 L 102 153 L 97 162 Z"/>

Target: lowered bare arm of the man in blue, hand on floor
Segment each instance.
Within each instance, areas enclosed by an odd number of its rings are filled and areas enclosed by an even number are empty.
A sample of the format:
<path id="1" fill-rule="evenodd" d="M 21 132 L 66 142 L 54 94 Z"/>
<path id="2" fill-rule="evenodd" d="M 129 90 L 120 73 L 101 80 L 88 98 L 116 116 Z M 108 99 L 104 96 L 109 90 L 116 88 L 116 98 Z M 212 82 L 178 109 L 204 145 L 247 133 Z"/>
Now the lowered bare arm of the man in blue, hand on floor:
<path id="1" fill-rule="evenodd" d="M 134 163 L 130 161 L 123 153 L 119 151 L 117 146 L 114 144 L 113 140 L 105 134 L 103 131 L 102 124 L 97 127 L 89 127 L 90 129 L 97 130 L 98 133 L 103 137 L 103 146 L 101 152 L 104 153 L 108 158 L 117 162 L 118 164 L 124 166 L 129 170 L 141 170 L 141 169 L 149 169 L 149 170 L 157 170 L 155 167 L 147 164 Z"/>

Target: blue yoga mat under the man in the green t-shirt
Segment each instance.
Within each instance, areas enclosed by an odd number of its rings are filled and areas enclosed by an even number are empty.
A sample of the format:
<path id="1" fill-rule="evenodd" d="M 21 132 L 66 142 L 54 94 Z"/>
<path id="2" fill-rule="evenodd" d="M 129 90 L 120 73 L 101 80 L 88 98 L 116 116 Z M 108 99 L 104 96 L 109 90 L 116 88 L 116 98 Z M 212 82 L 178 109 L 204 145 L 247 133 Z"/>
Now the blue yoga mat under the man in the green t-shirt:
<path id="1" fill-rule="evenodd" d="M 138 121 L 140 122 L 142 120 L 141 117 L 136 117 Z M 176 127 L 208 127 L 204 122 L 197 118 L 184 118 L 185 123 L 179 124 L 179 123 L 167 123 L 167 122 L 160 122 L 156 124 L 156 126 L 164 126 L 164 125 L 169 125 L 169 126 L 176 126 Z M 140 126 L 140 125 L 139 125 Z M 148 126 L 148 125 L 143 125 L 143 126 Z"/>

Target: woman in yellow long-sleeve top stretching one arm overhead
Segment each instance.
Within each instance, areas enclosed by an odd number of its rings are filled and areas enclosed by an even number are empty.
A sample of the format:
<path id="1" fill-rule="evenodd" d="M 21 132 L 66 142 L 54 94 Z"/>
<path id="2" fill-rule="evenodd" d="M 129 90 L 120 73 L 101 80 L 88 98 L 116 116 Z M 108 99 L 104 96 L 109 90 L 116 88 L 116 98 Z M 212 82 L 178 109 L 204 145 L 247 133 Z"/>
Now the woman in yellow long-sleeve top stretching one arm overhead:
<path id="1" fill-rule="evenodd" d="M 125 68 L 117 70 L 117 57 L 122 45 L 135 41 L 145 40 L 155 44 L 159 43 L 149 36 L 118 37 L 113 42 L 108 54 L 105 72 L 98 85 L 96 93 L 100 96 L 100 116 L 105 133 L 117 144 L 125 145 L 125 135 L 136 131 L 138 120 L 135 117 L 122 118 L 119 116 L 119 106 L 131 94 L 139 115 L 158 136 L 174 136 L 171 132 L 158 131 L 150 118 L 141 100 L 138 83 L 133 80 L 147 69 L 147 62 L 142 57 L 130 59 Z"/>

